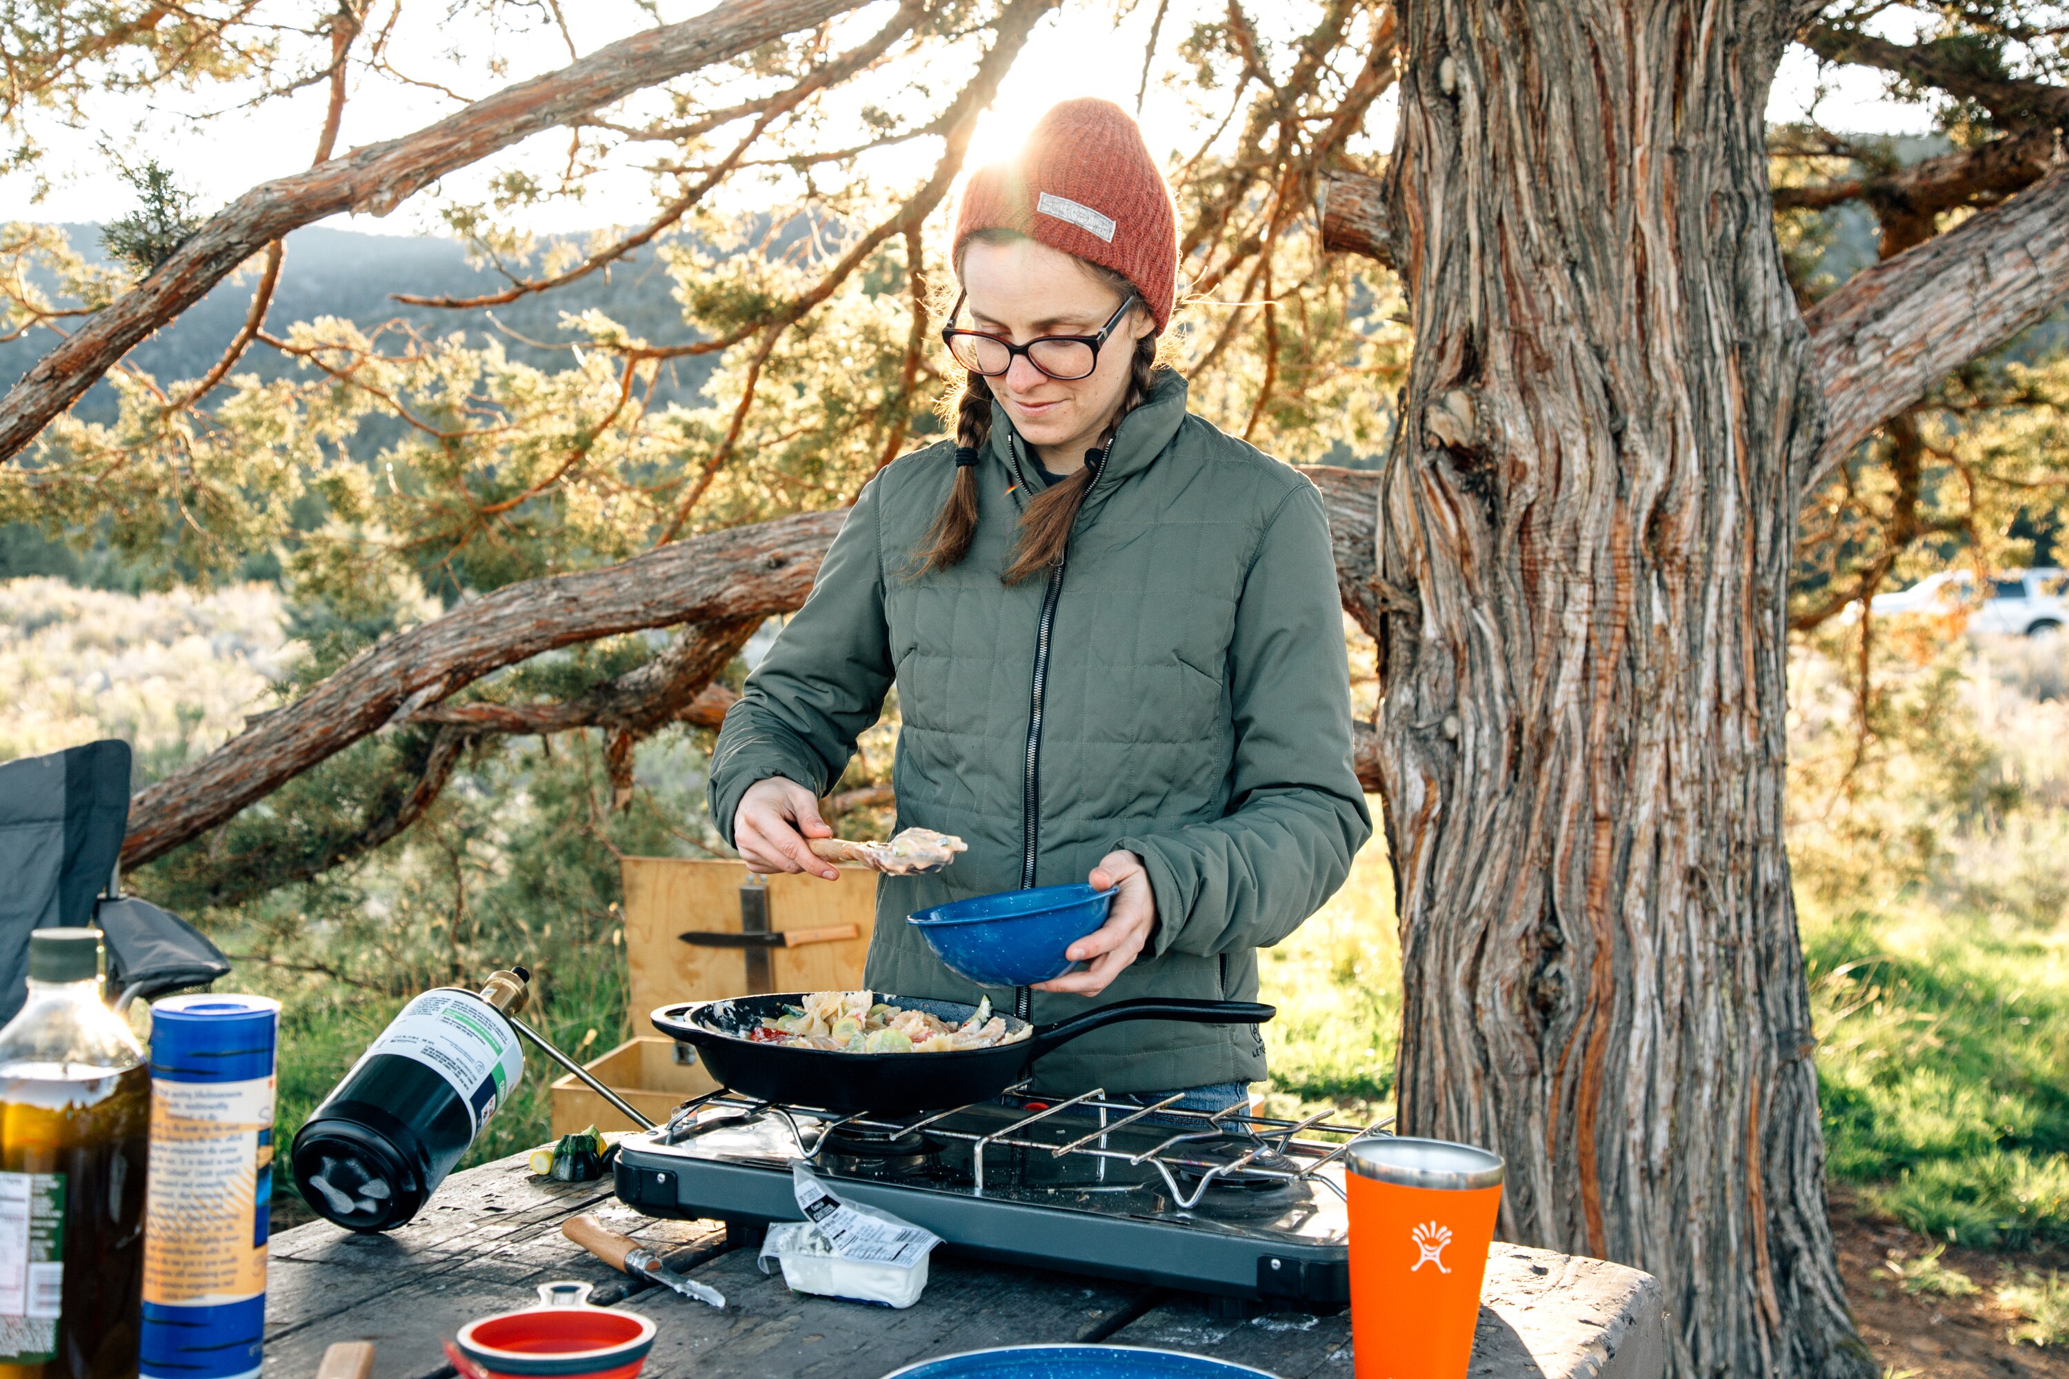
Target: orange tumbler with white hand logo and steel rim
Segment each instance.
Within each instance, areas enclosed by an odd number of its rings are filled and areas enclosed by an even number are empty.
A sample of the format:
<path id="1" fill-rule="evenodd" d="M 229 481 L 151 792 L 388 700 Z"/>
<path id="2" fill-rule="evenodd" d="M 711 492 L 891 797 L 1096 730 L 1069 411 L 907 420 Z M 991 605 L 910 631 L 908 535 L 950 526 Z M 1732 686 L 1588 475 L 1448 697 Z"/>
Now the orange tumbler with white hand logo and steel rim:
<path id="1" fill-rule="evenodd" d="M 1502 1156 L 1386 1135 L 1345 1158 L 1357 1379 L 1465 1379 Z"/>

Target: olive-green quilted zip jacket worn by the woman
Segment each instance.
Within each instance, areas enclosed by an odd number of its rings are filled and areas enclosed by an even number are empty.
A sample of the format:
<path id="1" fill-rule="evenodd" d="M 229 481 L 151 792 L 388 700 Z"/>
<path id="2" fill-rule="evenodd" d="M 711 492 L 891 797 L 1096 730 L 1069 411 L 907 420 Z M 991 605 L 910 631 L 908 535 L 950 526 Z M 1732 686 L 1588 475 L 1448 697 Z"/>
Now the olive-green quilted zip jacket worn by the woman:
<path id="1" fill-rule="evenodd" d="M 1010 490 L 1043 480 L 1006 411 L 991 418 L 960 566 L 910 575 L 956 476 L 954 442 L 863 488 L 811 600 L 726 713 L 712 819 L 730 837 L 741 796 L 768 775 L 826 794 L 896 684 L 898 827 L 970 850 L 931 877 L 877 883 L 875 990 L 977 1001 L 906 916 L 1022 885 L 1026 850 L 1034 885 L 1057 885 L 1126 848 L 1157 893 L 1150 945 L 1092 1001 L 1034 992 L 1034 1019 L 1132 997 L 1254 1001 L 1256 949 L 1314 914 L 1372 833 L 1320 494 L 1188 416 L 1186 380 L 1165 372 L 1115 432 L 1061 583 L 1006 587 L 1022 496 Z M 1012 990 L 989 994 L 1012 1009 Z M 1066 1044 L 1037 1077 L 1047 1094 L 1254 1081 L 1264 1040 L 1256 1025 L 1134 1021 Z"/>

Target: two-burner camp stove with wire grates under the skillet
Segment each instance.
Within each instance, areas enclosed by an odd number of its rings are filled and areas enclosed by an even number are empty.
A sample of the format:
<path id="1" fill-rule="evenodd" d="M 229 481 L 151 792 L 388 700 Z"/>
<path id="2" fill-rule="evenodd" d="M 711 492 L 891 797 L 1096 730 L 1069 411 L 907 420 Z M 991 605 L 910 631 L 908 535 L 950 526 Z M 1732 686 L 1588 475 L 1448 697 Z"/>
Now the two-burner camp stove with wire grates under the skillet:
<path id="1" fill-rule="evenodd" d="M 1279 1121 L 1117 1102 L 1105 1092 L 914 1116 L 842 1114 L 732 1092 L 627 1135 L 617 1195 L 648 1216 L 714 1218 L 737 1243 L 799 1220 L 799 1160 L 979 1259 L 1299 1305 L 1349 1300 L 1343 1152 L 1386 1123 Z"/>

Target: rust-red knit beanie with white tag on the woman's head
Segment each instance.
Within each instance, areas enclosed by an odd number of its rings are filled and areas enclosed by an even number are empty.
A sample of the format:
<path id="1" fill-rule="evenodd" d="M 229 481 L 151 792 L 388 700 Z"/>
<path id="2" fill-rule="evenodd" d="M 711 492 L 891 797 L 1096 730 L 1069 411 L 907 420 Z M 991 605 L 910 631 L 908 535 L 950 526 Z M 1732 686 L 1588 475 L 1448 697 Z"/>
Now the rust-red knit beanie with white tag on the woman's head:
<path id="1" fill-rule="evenodd" d="M 1016 229 L 1121 273 L 1157 318 L 1177 296 L 1177 213 L 1142 130 L 1113 101 L 1051 105 L 1020 151 L 962 188 L 956 246 L 979 229 Z"/>

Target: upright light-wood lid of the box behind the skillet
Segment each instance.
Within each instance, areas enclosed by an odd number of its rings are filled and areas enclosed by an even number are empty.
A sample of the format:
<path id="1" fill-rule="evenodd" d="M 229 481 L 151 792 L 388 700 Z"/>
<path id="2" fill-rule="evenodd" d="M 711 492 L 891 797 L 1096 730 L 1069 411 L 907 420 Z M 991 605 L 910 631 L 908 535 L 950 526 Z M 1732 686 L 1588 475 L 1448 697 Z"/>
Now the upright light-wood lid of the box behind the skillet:
<path id="1" fill-rule="evenodd" d="M 768 949 L 768 990 L 861 988 L 875 930 L 877 875 L 867 866 L 838 870 L 840 881 L 768 879 L 768 926 L 792 937 L 788 947 Z M 625 858 L 623 879 L 635 1032 L 646 1034 L 648 1015 L 662 1005 L 749 994 L 745 949 L 699 947 L 681 937 L 741 932 L 745 862 Z"/>

